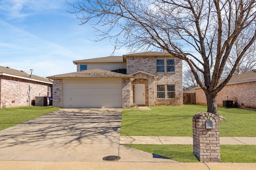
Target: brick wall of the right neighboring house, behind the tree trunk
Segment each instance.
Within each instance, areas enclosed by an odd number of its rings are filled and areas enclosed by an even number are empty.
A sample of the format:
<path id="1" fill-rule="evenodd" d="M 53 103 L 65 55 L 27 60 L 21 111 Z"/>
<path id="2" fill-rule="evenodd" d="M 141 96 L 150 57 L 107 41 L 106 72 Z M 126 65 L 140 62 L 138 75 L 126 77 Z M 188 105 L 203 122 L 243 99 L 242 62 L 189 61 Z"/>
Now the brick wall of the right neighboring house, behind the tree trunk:
<path id="1" fill-rule="evenodd" d="M 217 105 L 222 107 L 222 101 L 233 100 L 237 107 L 256 109 L 256 82 L 246 82 L 226 85 L 217 96 Z M 206 96 L 202 89 L 196 89 L 196 104 L 207 105 Z M 242 106 L 242 104 L 244 106 Z"/>

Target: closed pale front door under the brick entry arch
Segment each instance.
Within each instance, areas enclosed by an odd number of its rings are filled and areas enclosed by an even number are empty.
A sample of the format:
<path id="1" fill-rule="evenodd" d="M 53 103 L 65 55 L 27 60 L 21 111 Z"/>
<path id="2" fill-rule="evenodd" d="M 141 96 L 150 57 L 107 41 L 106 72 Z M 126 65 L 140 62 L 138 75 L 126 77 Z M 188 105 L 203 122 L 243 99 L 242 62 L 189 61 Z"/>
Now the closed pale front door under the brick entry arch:
<path id="1" fill-rule="evenodd" d="M 137 105 L 145 105 L 145 84 L 134 84 L 134 102 Z"/>

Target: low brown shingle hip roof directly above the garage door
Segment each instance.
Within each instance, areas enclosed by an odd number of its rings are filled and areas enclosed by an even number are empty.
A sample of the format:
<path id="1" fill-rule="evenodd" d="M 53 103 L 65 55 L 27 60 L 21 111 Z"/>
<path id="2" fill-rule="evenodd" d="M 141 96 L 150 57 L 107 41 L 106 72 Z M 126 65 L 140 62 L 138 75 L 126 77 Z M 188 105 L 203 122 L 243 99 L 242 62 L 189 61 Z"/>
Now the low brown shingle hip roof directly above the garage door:
<path id="1" fill-rule="evenodd" d="M 99 68 L 91 69 L 91 70 L 84 70 L 84 71 L 78 71 L 78 72 L 71 72 L 67 74 L 59 74 L 54 76 L 48 76 L 47 78 L 54 79 L 54 78 L 132 78 L 134 76 L 121 74 L 117 72 L 102 70 Z"/>

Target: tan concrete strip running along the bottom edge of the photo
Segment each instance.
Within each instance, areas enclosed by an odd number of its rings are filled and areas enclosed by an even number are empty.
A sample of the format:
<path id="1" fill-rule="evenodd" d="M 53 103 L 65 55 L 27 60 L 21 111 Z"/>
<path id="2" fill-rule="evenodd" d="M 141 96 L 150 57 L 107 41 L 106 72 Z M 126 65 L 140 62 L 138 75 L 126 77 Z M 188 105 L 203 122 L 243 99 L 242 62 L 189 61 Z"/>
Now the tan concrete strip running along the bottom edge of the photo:
<path id="1" fill-rule="evenodd" d="M 1 161 L 1 170 L 255 170 L 254 163 Z"/>

